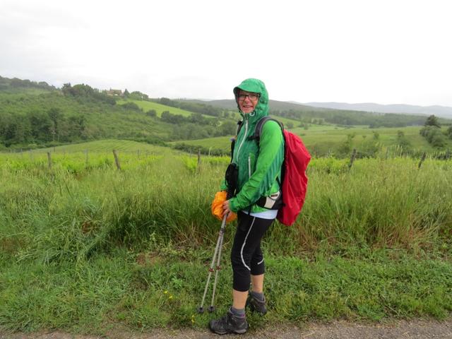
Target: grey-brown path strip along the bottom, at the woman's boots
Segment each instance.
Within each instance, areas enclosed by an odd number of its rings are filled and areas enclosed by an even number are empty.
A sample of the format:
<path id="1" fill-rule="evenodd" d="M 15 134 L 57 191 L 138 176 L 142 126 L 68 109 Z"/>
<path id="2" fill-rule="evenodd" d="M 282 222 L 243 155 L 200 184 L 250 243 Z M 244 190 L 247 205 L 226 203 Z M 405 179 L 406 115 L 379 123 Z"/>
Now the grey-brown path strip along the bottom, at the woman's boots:
<path id="1" fill-rule="evenodd" d="M 363 325 L 336 321 L 329 324 L 307 324 L 304 328 L 266 328 L 263 331 L 251 329 L 244 335 L 214 335 L 206 331 L 158 330 L 150 333 L 111 332 L 104 337 L 72 335 L 68 333 L 1 333 L 0 339 L 194 339 L 194 338 L 307 338 L 307 339 L 452 339 L 452 319 L 448 321 L 398 321 L 390 325 Z"/>

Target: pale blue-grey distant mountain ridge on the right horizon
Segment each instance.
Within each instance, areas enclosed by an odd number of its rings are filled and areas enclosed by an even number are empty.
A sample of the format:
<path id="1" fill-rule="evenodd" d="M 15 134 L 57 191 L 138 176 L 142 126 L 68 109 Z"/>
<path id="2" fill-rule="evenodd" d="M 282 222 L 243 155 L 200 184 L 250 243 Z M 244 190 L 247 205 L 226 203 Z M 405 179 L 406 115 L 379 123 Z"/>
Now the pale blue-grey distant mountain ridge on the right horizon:
<path id="1" fill-rule="evenodd" d="M 446 106 L 415 106 L 415 105 L 379 105 L 371 102 L 361 104 L 347 104 L 345 102 L 307 102 L 304 105 L 322 107 L 329 109 L 346 109 L 353 111 L 379 112 L 379 113 L 401 113 L 401 114 L 423 114 L 436 115 L 437 117 L 452 118 L 452 107 Z"/>

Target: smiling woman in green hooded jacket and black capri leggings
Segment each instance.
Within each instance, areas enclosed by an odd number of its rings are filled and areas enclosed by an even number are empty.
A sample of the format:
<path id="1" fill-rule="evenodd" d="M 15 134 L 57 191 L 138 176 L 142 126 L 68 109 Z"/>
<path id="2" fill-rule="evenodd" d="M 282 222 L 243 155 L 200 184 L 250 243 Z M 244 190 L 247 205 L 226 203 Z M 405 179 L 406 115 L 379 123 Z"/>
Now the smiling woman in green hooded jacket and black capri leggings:
<path id="1" fill-rule="evenodd" d="M 252 138 L 257 121 L 268 115 L 268 93 L 264 83 L 246 79 L 234 88 L 234 96 L 242 115 L 242 126 L 232 154 L 232 164 L 238 167 L 237 188 L 236 195 L 222 204 L 223 215 L 237 213 L 237 231 L 231 251 L 233 301 L 225 316 L 210 321 L 210 329 L 218 334 L 246 332 L 246 305 L 266 314 L 261 239 L 278 210 L 260 207 L 257 201 L 262 197 L 278 196 L 284 160 L 283 133 L 277 122 L 267 121 L 263 125 L 259 143 Z M 221 190 L 227 190 L 226 182 L 222 183 Z"/>

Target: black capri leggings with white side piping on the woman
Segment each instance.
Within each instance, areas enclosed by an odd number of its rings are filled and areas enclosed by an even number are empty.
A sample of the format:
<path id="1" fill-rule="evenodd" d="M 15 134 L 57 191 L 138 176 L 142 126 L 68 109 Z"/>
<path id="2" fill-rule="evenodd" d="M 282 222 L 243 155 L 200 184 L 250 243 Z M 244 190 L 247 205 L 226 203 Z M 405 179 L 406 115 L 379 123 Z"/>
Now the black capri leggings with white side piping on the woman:
<path id="1" fill-rule="evenodd" d="M 265 272 L 261 239 L 274 219 L 261 219 L 243 212 L 237 214 L 237 231 L 231 251 L 234 290 L 249 290 L 252 275 Z"/>

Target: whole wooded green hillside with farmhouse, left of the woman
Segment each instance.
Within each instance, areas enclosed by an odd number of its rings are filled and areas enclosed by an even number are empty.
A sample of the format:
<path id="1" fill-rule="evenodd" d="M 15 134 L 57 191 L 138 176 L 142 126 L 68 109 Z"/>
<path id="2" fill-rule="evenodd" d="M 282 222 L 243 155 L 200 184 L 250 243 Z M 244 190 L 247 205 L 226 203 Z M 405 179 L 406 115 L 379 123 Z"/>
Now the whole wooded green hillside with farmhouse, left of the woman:
<path id="1" fill-rule="evenodd" d="M 105 138 L 163 144 L 235 131 L 232 119 L 148 100 L 118 100 L 89 85 L 67 83 L 57 89 L 20 79 L 0 80 L 0 150 Z"/>

